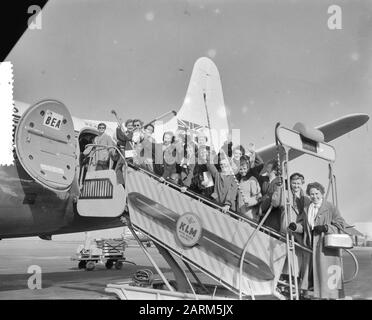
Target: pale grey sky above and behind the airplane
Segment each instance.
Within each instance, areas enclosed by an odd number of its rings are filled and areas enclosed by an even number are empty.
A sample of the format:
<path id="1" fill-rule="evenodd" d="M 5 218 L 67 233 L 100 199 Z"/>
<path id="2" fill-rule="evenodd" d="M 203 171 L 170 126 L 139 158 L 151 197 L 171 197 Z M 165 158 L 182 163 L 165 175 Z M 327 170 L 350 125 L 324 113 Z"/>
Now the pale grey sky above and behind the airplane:
<path id="1" fill-rule="evenodd" d="M 340 6 L 342 29 L 328 28 L 330 5 Z M 179 109 L 193 64 L 206 56 L 243 145 L 273 143 L 276 122 L 372 115 L 371 1 L 51 0 L 41 21 L 7 59 L 16 100 L 54 98 L 81 118 L 114 121 L 115 108 L 150 121 Z M 372 221 L 371 130 L 332 143 L 349 223 Z M 306 182 L 326 182 L 318 160 L 292 165 Z"/>

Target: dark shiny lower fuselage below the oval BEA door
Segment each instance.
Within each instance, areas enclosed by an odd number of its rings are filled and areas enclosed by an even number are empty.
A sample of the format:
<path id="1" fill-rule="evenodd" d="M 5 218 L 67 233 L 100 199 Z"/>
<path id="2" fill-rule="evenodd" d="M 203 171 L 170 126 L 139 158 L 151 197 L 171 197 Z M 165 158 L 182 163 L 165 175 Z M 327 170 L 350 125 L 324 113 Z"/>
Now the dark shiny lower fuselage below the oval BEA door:
<path id="1" fill-rule="evenodd" d="M 77 179 L 56 193 L 35 182 L 16 159 L 0 166 L 0 238 L 45 236 L 120 227 L 119 218 L 82 217 L 76 209 Z"/>

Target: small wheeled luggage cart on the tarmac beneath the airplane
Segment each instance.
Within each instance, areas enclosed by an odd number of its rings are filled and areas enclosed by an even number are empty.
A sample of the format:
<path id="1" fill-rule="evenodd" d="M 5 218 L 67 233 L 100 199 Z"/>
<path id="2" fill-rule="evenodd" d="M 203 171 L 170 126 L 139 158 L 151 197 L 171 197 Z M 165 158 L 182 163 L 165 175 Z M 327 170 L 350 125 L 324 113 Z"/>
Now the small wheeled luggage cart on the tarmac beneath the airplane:
<path id="1" fill-rule="evenodd" d="M 78 268 L 87 271 L 94 270 L 97 263 L 105 265 L 106 269 L 120 270 L 124 263 L 135 265 L 134 262 L 128 261 L 125 257 L 125 248 L 127 242 L 124 239 L 94 239 L 94 244 L 89 248 L 80 245 L 72 261 L 79 261 Z"/>

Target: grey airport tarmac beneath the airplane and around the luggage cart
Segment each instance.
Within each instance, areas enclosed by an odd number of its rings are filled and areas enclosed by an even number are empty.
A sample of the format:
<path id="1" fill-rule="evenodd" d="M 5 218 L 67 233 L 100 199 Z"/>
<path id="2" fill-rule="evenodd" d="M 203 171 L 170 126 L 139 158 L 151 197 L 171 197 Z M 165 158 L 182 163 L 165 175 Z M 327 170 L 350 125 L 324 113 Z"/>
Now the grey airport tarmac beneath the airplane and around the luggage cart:
<path id="1" fill-rule="evenodd" d="M 44 241 L 38 239 L 4 239 L 0 241 L 0 300 L 34 299 L 116 299 L 104 290 L 109 283 L 131 279 L 139 269 L 152 269 L 141 248 L 129 243 L 125 263 L 121 270 L 107 270 L 96 264 L 93 271 L 77 267 L 71 257 L 81 241 Z M 167 275 L 170 269 L 157 249 L 148 248 L 156 263 Z M 358 247 L 352 252 L 359 262 L 357 277 L 345 284 L 346 299 L 372 299 L 372 248 Z M 35 267 L 36 266 L 36 267 Z M 30 289 L 30 277 L 35 268 L 41 270 L 41 288 Z M 344 254 L 344 276 L 349 279 L 354 272 L 353 261 Z M 154 271 L 155 273 L 155 271 Z M 32 282 L 32 281 L 31 281 Z"/>

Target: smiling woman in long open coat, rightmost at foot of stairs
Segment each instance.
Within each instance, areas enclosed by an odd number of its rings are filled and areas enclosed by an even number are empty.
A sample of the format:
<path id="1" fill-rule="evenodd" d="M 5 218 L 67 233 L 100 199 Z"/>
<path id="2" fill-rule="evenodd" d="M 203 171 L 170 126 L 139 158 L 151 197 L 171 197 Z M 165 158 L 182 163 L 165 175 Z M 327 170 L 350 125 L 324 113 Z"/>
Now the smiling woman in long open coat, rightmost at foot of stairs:
<path id="1" fill-rule="evenodd" d="M 314 298 L 338 299 L 344 297 L 343 270 L 340 249 L 326 248 L 327 234 L 342 233 L 345 220 L 338 209 L 324 199 L 324 187 L 310 183 L 306 188 L 311 203 L 301 223 L 291 223 L 288 228 L 304 234 L 304 243 L 313 248 L 312 255 L 306 255 L 301 273 L 301 289 L 314 288 Z"/>

